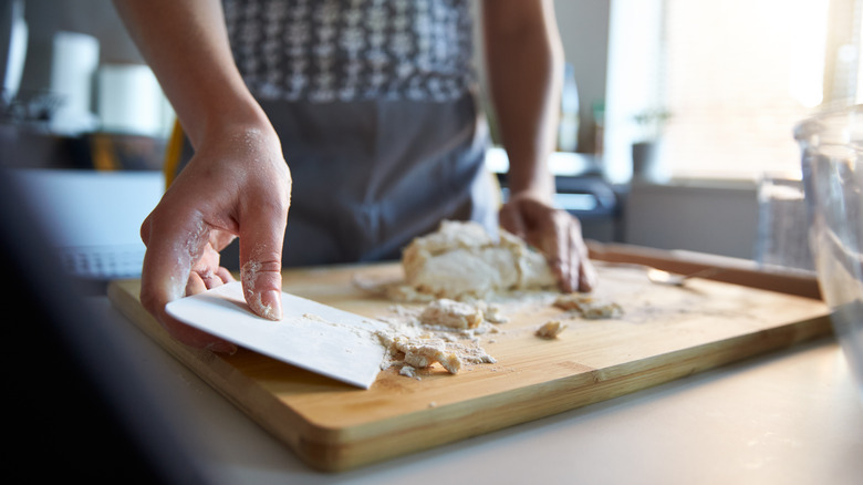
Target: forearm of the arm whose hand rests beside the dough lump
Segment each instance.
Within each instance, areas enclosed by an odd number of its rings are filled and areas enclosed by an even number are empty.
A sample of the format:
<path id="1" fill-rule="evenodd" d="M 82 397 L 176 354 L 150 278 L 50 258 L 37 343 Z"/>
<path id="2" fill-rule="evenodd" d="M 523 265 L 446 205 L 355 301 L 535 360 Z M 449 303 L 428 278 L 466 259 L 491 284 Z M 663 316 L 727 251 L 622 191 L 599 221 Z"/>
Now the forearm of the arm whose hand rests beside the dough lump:
<path id="1" fill-rule="evenodd" d="M 550 202 L 563 51 L 553 7 L 543 0 L 484 3 L 488 87 L 510 162 L 511 194 Z"/>

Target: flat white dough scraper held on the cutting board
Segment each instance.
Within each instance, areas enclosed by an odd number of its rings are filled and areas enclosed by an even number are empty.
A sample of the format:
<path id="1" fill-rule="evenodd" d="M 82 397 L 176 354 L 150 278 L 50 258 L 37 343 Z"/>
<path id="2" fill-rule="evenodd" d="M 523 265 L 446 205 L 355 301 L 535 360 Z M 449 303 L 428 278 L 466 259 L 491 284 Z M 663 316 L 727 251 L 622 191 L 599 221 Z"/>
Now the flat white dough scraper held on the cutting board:
<path id="1" fill-rule="evenodd" d="M 239 281 L 171 301 L 168 314 L 238 345 L 368 389 L 384 360 L 386 323 L 282 292 L 282 319 L 252 313 Z"/>

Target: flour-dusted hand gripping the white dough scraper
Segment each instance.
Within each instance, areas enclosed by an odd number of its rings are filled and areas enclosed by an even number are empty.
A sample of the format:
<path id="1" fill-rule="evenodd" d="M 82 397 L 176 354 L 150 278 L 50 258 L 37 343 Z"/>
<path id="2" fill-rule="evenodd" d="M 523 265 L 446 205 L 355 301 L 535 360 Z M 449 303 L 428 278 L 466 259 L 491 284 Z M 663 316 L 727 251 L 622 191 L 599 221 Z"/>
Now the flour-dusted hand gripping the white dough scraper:
<path id="1" fill-rule="evenodd" d="M 170 318 L 165 306 L 233 280 L 219 251 L 240 238 L 240 275 L 250 309 L 281 319 L 281 257 L 291 176 L 278 137 L 245 128 L 211 136 L 144 220 L 141 301 L 175 339 L 232 353 L 232 343 Z"/>

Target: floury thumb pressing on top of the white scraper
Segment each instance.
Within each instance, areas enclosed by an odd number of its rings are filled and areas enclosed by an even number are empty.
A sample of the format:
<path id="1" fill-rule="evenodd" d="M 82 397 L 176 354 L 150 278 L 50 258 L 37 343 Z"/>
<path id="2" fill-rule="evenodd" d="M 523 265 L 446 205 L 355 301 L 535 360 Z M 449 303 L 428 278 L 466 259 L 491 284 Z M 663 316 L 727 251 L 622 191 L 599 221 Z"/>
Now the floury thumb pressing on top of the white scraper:
<path id="1" fill-rule="evenodd" d="M 282 318 L 282 244 L 288 207 L 273 202 L 245 214 L 240 227 L 240 280 L 252 311 Z"/>

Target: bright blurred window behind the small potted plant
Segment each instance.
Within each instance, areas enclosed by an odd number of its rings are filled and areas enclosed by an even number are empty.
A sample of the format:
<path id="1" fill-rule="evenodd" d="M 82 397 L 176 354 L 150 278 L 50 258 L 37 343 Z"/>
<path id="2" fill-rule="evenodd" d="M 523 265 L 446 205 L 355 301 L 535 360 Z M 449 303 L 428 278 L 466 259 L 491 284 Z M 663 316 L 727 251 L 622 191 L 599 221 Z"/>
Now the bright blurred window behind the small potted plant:
<path id="1" fill-rule="evenodd" d="M 794 124 L 863 102 L 863 0 L 615 0 L 606 162 L 626 179 L 638 113 L 664 110 L 677 178 L 799 173 Z"/>

